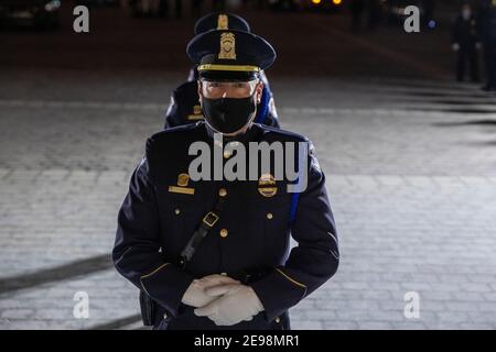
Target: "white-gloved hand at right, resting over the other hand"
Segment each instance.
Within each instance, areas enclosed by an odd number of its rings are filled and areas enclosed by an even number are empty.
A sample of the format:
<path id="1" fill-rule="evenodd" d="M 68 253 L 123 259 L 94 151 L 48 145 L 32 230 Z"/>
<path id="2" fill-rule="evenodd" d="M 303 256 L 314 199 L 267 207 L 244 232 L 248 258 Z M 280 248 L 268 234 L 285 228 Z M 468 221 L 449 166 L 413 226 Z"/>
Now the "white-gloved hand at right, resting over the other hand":
<path id="1" fill-rule="evenodd" d="M 212 297 L 220 297 L 203 308 L 196 308 L 195 315 L 208 317 L 217 326 L 233 326 L 242 320 L 248 321 L 263 310 L 260 299 L 250 286 L 222 285 L 207 288 L 205 293 Z"/>

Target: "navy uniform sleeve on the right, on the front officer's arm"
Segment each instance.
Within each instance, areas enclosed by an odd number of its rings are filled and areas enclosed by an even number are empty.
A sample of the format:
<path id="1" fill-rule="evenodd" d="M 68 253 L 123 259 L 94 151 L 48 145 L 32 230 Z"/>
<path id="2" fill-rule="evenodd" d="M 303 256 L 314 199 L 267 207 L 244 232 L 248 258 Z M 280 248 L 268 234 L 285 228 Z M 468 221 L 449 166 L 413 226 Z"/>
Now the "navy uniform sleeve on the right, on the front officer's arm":
<path id="1" fill-rule="evenodd" d="M 274 267 L 263 279 L 251 284 L 268 321 L 309 296 L 337 271 L 337 235 L 325 176 L 312 154 L 308 187 L 300 194 L 291 231 L 298 246 L 283 266 Z"/>

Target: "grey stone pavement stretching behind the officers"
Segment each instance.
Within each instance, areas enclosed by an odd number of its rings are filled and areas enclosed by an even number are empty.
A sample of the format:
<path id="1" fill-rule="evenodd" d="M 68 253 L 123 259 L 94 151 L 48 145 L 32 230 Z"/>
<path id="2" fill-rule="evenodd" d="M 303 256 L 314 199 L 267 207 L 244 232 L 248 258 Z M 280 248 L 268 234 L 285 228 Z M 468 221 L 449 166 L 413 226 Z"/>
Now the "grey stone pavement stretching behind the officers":
<path id="1" fill-rule="evenodd" d="M 1 329 L 139 327 L 137 289 L 108 254 L 166 94 L 103 101 L 86 79 L 55 98 L 17 84 L 1 96 Z M 129 79 L 130 91 L 147 79 Z M 293 328 L 495 329 L 495 97 L 442 81 L 272 86 L 283 127 L 316 146 L 342 251 L 335 277 L 291 310 Z M 73 316 L 78 292 L 89 319 Z M 403 315 L 408 292 L 418 319 Z"/>

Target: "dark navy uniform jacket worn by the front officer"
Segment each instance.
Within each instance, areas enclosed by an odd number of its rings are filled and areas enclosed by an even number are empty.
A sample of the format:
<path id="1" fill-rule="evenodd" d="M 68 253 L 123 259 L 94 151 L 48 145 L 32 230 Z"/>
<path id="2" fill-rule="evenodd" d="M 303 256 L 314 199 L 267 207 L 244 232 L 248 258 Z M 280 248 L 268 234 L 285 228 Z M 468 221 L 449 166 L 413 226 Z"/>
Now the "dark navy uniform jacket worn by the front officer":
<path id="1" fill-rule="evenodd" d="M 169 129 L 148 140 L 145 157 L 132 174 L 119 211 L 115 265 L 160 304 L 155 327 L 218 329 L 212 320 L 196 317 L 192 307 L 181 304 L 184 292 L 194 278 L 214 273 L 238 278 L 255 270 L 261 275 L 249 285 L 265 311 L 251 321 L 223 329 L 289 328 L 288 309 L 333 276 L 338 265 L 325 177 L 312 148 L 306 156 L 306 189 L 290 194 L 287 180 L 278 180 L 268 194 L 260 190 L 259 182 L 184 183 L 184 174 L 195 157 L 188 155 L 188 146 L 195 141 L 215 147 L 204 122 Z M 237 141 L 308 140 L 254 124 Z M 220 195 L 225 206 L 219 220 L 188 266 L 181 270 L 176 265 L 181 250 Z M 298 242 L 291 252 L 290 235 Z"/>

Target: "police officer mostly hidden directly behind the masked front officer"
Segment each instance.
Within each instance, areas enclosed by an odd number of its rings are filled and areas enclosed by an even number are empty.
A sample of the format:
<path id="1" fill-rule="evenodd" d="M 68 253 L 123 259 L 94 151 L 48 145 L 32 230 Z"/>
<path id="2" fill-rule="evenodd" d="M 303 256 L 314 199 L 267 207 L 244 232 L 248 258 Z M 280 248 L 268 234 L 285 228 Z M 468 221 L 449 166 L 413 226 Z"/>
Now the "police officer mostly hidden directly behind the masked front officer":
<path id="1" fill-rule="evenodd" d="M 211 13 L 200 19 L 195 24 L 195 35 L 217 30 L 229 29 L 249 32 L 249 24 L 240 16 L 231 13 Z M 270 90 L 269 81 L 263 72 L 260 73 L 263 80 L 263 91 L 260 105 L 257 109 L 257 123 L 279 128 L 278 113 Z M 193 123 L 202 120 L 203 113 L 198 103 L 197 80 L 198 73 L 196 67 L 190 70 L 187 81 L 174 89 L 171 96 L 171 103 L 165 113 L 164 128 L 172 128 L 181 124 Z"/>

